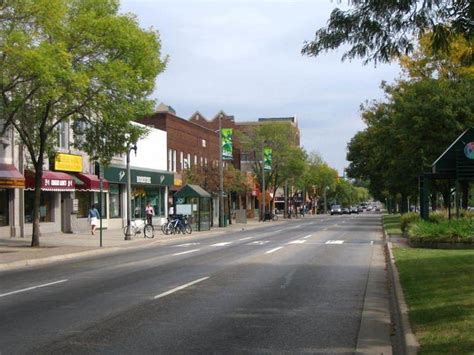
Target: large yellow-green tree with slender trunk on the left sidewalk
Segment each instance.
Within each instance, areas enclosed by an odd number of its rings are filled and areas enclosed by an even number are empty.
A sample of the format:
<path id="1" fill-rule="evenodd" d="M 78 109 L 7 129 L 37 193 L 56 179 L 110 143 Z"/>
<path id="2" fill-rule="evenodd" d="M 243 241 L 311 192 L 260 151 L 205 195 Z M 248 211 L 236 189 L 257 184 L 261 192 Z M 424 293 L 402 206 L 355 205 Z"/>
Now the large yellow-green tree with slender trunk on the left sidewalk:
<path id="1" fill-rule="evenodd" d="M 130 120 L 152 111 L 147 97 L 165 67 L 158 33 L 118 9 L 116 0 L 0 2 L 1 119 L 35 171 L 32 246 L 39 246 L 43 164 L 58 126 L 72 123 L 85 136 L 78 146 L 106 163 L 142 133 Z"/>

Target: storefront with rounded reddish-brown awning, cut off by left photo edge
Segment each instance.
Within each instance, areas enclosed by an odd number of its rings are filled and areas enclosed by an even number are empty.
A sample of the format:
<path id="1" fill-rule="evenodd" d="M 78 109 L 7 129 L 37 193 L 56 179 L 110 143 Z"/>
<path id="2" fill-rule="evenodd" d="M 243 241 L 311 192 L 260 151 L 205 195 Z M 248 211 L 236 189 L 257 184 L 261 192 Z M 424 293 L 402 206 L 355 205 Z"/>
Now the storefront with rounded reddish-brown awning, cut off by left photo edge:
<path id="1" fill-rule="evenodd" d="M 25 187 L 25 178 L 13 164 L 0 164 L 0 233 L 15 236 L 15 193 Z M 9 228 L 10 227 L 10 228 Z"/>

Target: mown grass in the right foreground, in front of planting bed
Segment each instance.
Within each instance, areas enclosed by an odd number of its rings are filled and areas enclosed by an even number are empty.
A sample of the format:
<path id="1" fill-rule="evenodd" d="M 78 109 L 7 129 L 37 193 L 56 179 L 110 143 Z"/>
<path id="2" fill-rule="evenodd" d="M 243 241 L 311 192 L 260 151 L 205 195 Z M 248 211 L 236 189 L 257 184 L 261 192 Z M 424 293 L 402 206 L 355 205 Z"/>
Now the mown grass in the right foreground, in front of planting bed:
<path id="1" fill-rule="evenodd" d="M 420 354 L 474 354 L 474 250 L 394 254 Z"/>

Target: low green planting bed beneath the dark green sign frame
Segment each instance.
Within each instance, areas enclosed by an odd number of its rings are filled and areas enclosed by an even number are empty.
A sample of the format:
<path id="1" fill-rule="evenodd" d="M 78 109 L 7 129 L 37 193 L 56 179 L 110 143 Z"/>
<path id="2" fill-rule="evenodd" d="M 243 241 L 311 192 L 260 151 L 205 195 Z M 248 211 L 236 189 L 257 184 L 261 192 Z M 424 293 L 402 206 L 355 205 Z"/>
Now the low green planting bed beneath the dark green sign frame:
<path id="1" fill-rule="evenodd" d="M 474 220 L 456 219 L 432 223 L 427 221 L 414 222 L 408 234 L 412 240 L 431 240 L 440 242 L 473 242 Z"/>

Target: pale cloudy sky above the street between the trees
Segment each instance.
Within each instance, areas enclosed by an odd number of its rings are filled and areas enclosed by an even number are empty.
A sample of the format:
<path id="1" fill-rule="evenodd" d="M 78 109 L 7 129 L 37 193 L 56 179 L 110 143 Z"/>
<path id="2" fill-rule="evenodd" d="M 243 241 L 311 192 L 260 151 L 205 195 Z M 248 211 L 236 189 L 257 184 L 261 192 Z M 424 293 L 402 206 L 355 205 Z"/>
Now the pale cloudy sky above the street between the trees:
<path id="1" fill-rule="evenodd" d="M 121 12 L 160 34 L 168 64 L 152 95 L 188 119 L 220 110 L 235 121 L 296 116 L 301 145 L 342 175 L 360 105 L 383 99 L 398 65 L 341 62 L 343 50 L 301 55 L 334 0 L 121 0 Z"/>

